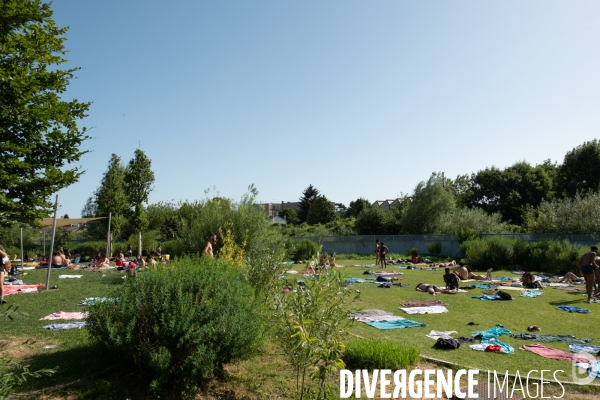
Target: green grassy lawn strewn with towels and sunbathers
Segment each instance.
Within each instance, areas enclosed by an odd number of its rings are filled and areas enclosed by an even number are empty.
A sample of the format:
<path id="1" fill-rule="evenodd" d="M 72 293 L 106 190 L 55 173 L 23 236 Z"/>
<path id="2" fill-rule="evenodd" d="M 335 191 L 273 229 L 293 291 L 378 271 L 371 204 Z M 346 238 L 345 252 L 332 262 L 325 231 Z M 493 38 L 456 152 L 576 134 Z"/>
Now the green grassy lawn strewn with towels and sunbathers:
<path id="1" fill-rule="evenodd" d="M 344 277 L 365 277 L 365 268 L 353 264 L 369 264 L 370 260 L 338 260 L 346 265 L 336 268 Z M 298 270 L 304 266 L 296 266 Z M 375 270 L 375 269 L 373 269 Z M 433 339 L 425 335 L 430 330 L 455 330 L 456 336 L 469 336 L 474 330 L 485 330 L 502 324 L 513 333 L 526 332 L 529 325 L 538 325 L 541 333 L 556 335 L 574 335 L 577 338 L 591 338 L 591 344 L 600 343 L 600 304 L 585 304 L 581 294 L 570 294 L 565 291 L 546 288 L 538 298 L 522 298 L 518 291 L 511 291 L 512 301 L 481 301 L 471 296 L 481 294 L 480 289 L 470 290 L 458 295 L 440 294 L 436 299 L 447 303 L 449 313 L 434 315 L 407 315 L 398 309 L 404 300 L 432 299 L 428 294 L 414 290 L 418 283 L 443 284 L 443 271 L 406 270 L 388 267 L 388 271 L 404 273 L 403 283 L 407 287 L 379 288 L 373 283 L 360 283 L 350 287 L 360 290 L 358 300 L 352 304 L 355 310 L 378 308 L 396 315 L 428 324 L 427 327 L 381 331 L 363 323 L 355 323 L 350 331 L 358 337 L 373 337 L 413 345 L 427 357 L 456 363 L 463 367 L 500 371 L 508 370 L 514 374 L 517 370 L 527 374 L 529 370 L 565 370 L 557 374 L 561 380 L 571 381 L 571 364 L 542 358 L 533 353 L 519 350 L 523 344 L 533 344 L 535 341 L 523 341 L 502 336 L 501 341 L 515 348 L 514 354 L 497 354 L 477 352 L 463 346 L 456 351 L 440 351 L 433 349 Z M 27 271 L 22 279 L 26 284 L 45 281 L 45 271 Z M 58 275 L 83 275 L 81 279 L 58 279 Z M 114 356 L 103 354 L 91 346 L 85 329 L 50 331 L 42 329 L 50 323 L 66 321 L 40 321 L 39 319 L 56 311 L 83 311 L 77 303 L 86 297 L 106 297 L 111 290 L 123 283 L 122 272 L 92 272 L 86 270 L 52 271 L 51 286 L 58 289 L 35 294 L 20 294 L 8 296 L 8 305 L 18 307 L 19 314 L 13 321 L 8 318 L 0 320 L 0 352 L 11 355 L 20 362 L 31 364 L 33 369 L 58 367 L 58 373 L 53 377 L 36 379 L 20 388 L 21 392 L 50 387 L 58 383 L 69 382 L 80 378 L 92 377 L 85 385 L 77 385 L 63 389 L 59 393 L 65 398 L 135 398 L 138 392 L 131 384 L 130 377 L 137 374 L 135 368 L 115 371 L 117 363 Z M 289 279 L 297 279 L 301 275 L 288 275 Z M 509 271 L 495 271 L 495 277 L 516 275 Z M 591 314 L 569 314 L 556 309 L 558 305 L 569 304 L 588 308 Z M 468 326 L 468 322 L 479 325 Z M 560 342 L 546 343 L 548 347 L 569 351 L 566 344 Z M 45 348 L 46 346 L 55 346 Z M 228 398 L 223 393 L 229 393 L 229 398 L 239 398 L 241 390 L 252 398 L 291 398 L 294 382 L 289 367 L 279 350 L 270 346 L 266 353 L 257 359 L 250 360 L 228 368 L 229 377 L 225 382 L 215 383 L 206 398 Z M 483 372 L 481 372 L 483 376 Z M 138 374 L 139 375 L 139 374 Z M 90 385 L 90 382 L 93 382 Z M 140 382 L 140 380 L 137 380 Z M 143 379 L 141 380 L 143 384 Z M 210 395 L 211 391 L 220 393 Z M 102 393 L 100 396 L 99 394 Z M 57 398 L 61 398 L 61 397 Z M 70 397 L 69 397 L 70 396 Z M 212 396 L 212 397 L 211 397 Z M 566 397 L 565 397 L 566 398 Z"/>

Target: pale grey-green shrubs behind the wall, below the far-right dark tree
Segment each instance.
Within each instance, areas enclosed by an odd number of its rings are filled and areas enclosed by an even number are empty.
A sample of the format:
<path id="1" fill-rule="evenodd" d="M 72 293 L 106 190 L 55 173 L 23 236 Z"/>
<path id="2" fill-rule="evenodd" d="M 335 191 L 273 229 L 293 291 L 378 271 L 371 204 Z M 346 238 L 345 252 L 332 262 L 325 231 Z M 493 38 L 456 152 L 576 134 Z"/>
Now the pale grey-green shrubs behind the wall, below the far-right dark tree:
<path id="1" fill-rule="evenodd" d="M 524 226 L 528 232 L 600 232 L 600 192 L 543 201 L 527 209 Z"/>

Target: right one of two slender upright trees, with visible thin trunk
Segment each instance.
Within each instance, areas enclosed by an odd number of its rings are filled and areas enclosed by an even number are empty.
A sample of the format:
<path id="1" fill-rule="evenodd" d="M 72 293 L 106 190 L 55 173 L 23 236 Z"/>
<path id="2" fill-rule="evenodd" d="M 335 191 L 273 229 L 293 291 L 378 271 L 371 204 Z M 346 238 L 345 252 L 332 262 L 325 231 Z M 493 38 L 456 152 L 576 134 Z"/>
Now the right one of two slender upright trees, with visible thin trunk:
<path id="1" fill-rule="evenodd" d="M 148 227 L 148 216 L 144 209 L 144 203 L 148 203 L 148 196 L 153 189 L 154 172 L 152 172 L 151 166 L 152 161 L 142 150 L 137 149 L 125 170 L 127 197 L 130 210 L 133 212 L 131 223 L 138 231 L 138 254 L 142 254 L 142 231 Z"/>

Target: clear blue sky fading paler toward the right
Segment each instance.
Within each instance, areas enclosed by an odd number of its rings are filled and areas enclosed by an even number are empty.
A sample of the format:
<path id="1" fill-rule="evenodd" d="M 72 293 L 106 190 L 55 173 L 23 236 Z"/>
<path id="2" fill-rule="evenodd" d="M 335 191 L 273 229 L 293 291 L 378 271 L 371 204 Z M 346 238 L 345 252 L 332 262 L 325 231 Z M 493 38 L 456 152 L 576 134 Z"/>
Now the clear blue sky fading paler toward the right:
<path id="1" fill-rule="evenodd" d="M 216 186 L 348 204 L 598 137 L 598 1 L 57 0 L 65 98 L 93 101 L 80 215 L 111 153 L 141 148 L 150 202 Z"/>

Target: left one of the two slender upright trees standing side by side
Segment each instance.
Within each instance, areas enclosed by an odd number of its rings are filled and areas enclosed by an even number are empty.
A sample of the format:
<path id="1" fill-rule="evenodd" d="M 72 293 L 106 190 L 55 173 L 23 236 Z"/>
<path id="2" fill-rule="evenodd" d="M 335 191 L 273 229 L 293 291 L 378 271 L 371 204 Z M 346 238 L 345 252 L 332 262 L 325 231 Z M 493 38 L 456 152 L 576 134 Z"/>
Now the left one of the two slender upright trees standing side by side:
<path id="1" fill-rule="evenodd" d="M 111 154 L 108 168 L 104 172 L 100 187 L 96 189 L 96 217 L 107 217 L 100 224 L 104 232 L 108 228 L 108 215 L 111 214 L 111 232 L 115 237 L 121 237 L 122 228 L 126 223 L 129 211 L 127 193 L 125 191 L 125 166 L 121 157 Z"/>

